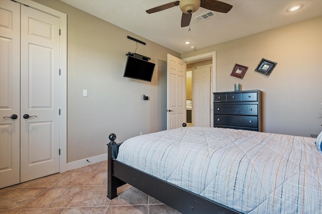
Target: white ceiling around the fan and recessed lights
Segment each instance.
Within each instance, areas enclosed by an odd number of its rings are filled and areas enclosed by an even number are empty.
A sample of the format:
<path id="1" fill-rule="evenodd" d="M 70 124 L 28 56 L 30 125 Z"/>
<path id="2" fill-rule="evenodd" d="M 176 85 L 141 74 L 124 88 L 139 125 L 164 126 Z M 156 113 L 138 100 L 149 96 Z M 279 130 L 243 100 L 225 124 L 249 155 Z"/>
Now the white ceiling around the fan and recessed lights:
<path id="1" fill-rule="evenodd" d="M 191 51 L 269 29 L 322 16 L 322 0 L 222 0 L 232 5 L 227 13 L 198 23 L 194 17 L 208 12 L 199 8 L 192 15 L 190 29 L 181 28 L 179 6 L 153 14 L 145 10 L 174 0 L 60 0 L 176 52 Z M 290 6 L 301 4 L 289 13 Z M 184 41 L 192 43 L 185 45 Z M 146 42 L 143 40 L 143 42 Z"/>

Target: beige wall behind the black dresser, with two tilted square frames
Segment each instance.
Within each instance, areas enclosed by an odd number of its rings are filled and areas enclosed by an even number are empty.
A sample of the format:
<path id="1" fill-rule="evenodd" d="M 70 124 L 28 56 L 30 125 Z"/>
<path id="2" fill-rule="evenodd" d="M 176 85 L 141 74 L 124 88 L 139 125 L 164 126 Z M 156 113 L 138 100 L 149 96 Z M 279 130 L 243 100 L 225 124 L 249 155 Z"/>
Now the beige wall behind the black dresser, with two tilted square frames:
<path id="1" fill-rule="evenodd" d="M 216 51 L 216 91 L 263 93 L 265 132 L 299 136 L 318 134 L 322 127 L 322 17 L 276 28 L 181 54 L 181 58 Z M 269 77 L 255 72 L 262 58 L 277 62 Z M 234 64 L 248 66 L 243 80 L 230 76 Z"/>

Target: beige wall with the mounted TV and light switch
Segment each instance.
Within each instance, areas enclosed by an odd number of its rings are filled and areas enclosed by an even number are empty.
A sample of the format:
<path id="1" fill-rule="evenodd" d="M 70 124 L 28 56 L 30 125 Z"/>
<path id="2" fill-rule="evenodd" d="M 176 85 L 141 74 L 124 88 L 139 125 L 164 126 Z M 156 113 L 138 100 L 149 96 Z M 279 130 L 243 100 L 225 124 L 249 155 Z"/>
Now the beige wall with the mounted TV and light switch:
<path id="1" fill-rule="evenodd" d="M 179 53 L 60 1 L 35 2 L 67 14 L 67 162 L 105 154 L 110 133 L 122 142 L 167 129 L 167 54 Z M 136 49 L 127 36 L 146 42 L 136 53 L 155 63 L 152 82 L 123 77 L 125 54 Z"/>

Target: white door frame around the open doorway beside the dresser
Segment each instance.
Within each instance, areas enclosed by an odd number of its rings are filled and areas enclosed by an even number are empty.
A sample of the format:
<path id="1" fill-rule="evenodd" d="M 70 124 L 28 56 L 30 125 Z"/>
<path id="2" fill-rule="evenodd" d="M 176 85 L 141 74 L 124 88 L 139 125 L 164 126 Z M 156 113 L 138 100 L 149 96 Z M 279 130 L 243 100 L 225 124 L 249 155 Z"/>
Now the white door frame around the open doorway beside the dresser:
<path id="1" fill-rule="evenodd" d="M 203 59 L 210 59 L 212 58 L 212 92 L 216 92 L 216 51 L 209 52 L 209 53 L 204 53 L 192 57 L 186 57 L 183 58 L 182 60 L 186 61 L 186 63 L 189 62 L 194 62 L 194 61 L 200 61 Z M 210 94 L 210 115 L 213 114 L 213 96 Z M 213 124 L 213 117 L 210 117 L 210 124 Z M 212 126 L 211 126 L 212 127 Z"/>

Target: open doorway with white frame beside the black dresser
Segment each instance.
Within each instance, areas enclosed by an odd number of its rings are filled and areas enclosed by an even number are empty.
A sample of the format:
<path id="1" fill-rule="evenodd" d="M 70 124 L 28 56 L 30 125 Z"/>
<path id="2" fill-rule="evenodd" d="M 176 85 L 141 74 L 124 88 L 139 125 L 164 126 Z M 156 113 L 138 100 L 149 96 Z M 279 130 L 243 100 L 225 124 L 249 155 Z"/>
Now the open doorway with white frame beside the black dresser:
<path id="1" fill-rule="evenodd" d="M 187 110 L 187 125 L 188 126 L 202 126 L 202 127 L 212 127 L 213 124 L 213 96 L 212 92 L 216 92 L 215 88 L 215 79 L 216 79 L 216 52 L 210 52 L 206 54 L 201 54 L 189 58 L 184 58 L 187 62 L 187 91 L 186 91 L 186 110 Z M 205 86 L 204 82 L 194 80 L 194 72 L 195 74 L 198 73 L 197 70 L 202 69 L 208 69 L 209 75 L 208 75 L 208 86 Z M 199 76 L 205 76 L 199 75 Z M 195 75 L 196 77 L 196 75 Z M 191 85 L 191 88 L 190 88 Z M 198 90 L 194 90 L 197 86 L 199 86 Z M 201 90 L 201 86 L 202 89 Z M 207 89 L 205 89 L 207 88 Z M 205 90 L 207 90 L 207 96 L 205 96 Z M 191 91 L 191 92 L 190 92 Z M 197 93 L 197 94 L 196 94 Z M 195 101 L 196 99 L 200 100 L 202 99 L 203 102 L 203 109 L 201 108 L 201 105 L 199 103 L 198 106 L 194 105 L 194 94 L 195 94 Z M 196 97 L 197 95 L 197 97 Z M 198 96 L 199 95 L 199 96 Z M 202 96 L 201 96 L 202 95 Z M 205 98 L 206 97 L 206 98 Z M 206 107 L 205 107 L 205 103 Z M 205 111 L 205 108 L 207 109 L 207 113 Z M 206 124 L 202 121 L 207 121 Z"/>

